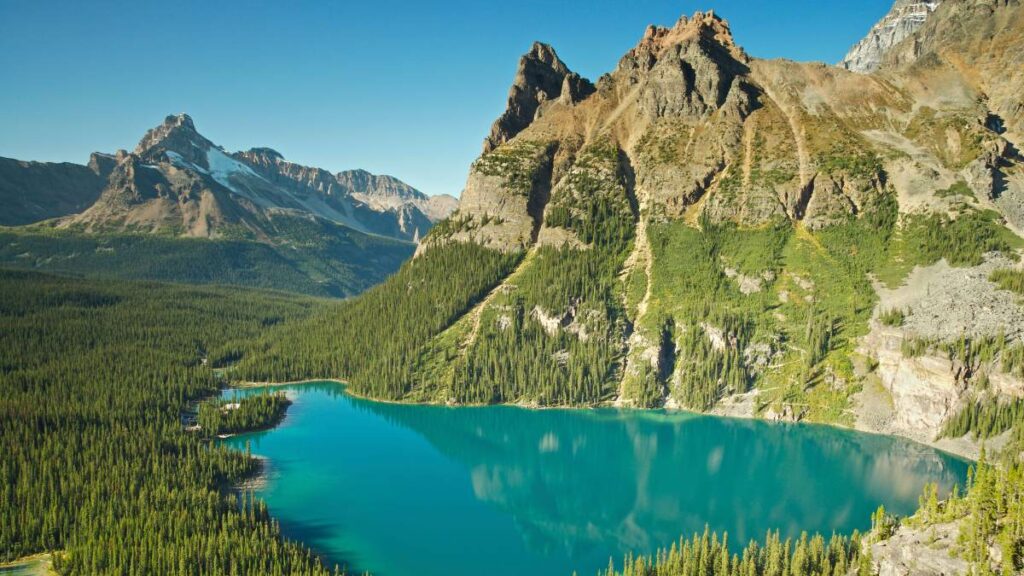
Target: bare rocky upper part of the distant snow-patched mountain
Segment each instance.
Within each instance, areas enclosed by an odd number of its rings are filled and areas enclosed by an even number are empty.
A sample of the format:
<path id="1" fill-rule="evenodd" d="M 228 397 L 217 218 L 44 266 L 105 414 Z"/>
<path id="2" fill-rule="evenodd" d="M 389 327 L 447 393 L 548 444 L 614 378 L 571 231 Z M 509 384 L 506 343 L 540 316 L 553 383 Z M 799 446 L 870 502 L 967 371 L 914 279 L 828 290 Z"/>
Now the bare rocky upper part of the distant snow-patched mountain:
<path id="1" fill-rule="evenodd" d="M 272 241 L 278 232 L 269 219 L 288 214 L 414 240 L 454 204 L 391 176 L 332 174 L 267 148 L 228 154 L 184 114 L 147 131 L 133 153 L 94 157 L 91 165 L 110 174 L 103 193 L 65 225 Z"/>

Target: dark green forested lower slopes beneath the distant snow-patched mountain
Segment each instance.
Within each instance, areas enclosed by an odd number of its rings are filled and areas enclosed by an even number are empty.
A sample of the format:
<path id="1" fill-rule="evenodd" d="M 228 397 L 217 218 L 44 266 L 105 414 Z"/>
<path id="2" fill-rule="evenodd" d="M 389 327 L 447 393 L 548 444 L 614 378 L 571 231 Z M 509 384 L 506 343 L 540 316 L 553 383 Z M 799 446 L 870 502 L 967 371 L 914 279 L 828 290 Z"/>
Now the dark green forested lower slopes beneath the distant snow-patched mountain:
<path id="1" fill-rule="evenodd" d="M 0 265 L 94 278 L 222 284 L 347 297 L 380 283 L 415 245 L 278 216 L 282 247 L 243 239 L 0 229 Z"/>

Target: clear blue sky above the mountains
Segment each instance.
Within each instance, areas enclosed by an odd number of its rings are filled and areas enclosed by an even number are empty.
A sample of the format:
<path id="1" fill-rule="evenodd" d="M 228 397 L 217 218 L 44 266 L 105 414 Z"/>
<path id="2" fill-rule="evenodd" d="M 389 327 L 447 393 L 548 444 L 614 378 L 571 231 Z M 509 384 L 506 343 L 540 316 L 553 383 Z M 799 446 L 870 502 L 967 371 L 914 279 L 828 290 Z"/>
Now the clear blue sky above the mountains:
<path id="1" fill-rule="evenodd" d="M 186 112 L 229 151 L 457 195 L 534 40 L 596 80 L 714 9 L 752 55 L 835 63 L 891 3 L 0 0 L 0 156 L 84 163 Z"/>

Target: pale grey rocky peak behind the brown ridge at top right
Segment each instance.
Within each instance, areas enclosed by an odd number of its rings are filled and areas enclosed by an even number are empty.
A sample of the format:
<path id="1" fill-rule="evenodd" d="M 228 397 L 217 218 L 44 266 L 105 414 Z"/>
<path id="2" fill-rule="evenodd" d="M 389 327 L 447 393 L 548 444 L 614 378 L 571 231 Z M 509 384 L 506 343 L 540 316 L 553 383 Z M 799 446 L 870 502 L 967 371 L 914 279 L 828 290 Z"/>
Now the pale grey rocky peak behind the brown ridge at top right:
<path id="1" fill-rule="evenodd" d="M 921 29 L 940 1 L 896 0 L 889 13 L 871 27 L 867 36 L 850 48 L 840 66 L 853 72 L 874 72 L 886 52 Z"/>

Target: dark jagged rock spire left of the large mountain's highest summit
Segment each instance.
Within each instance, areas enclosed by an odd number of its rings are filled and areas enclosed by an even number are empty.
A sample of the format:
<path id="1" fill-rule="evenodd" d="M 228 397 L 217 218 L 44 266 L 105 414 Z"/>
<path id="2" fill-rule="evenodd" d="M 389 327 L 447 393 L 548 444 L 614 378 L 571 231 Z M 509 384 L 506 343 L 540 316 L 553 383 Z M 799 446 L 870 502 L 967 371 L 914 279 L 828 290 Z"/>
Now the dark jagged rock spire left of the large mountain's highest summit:
<path id="1" fill-rule="evenodd" d="M 508 106 L 483 140 L 484 154 L 529 126 L 545 102 L 561 99 L 574 104 L 593 92 L 594 85 L 570 71 L 554 48 L 534 42 L 529 51 L 519 58 L 519 70 L 509 89 Z"/>

